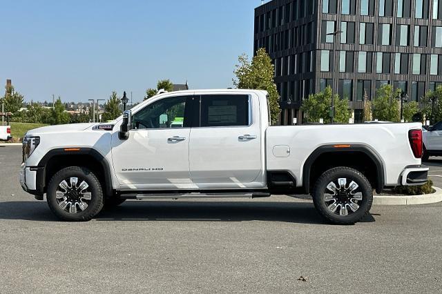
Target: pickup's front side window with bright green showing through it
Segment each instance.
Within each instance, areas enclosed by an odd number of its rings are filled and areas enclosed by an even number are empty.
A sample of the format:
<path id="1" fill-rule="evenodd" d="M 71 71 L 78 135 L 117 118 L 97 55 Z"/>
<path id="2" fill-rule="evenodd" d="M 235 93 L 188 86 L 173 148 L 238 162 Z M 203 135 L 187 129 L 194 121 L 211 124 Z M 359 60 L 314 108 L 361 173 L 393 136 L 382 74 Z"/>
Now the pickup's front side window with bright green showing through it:
<path id="1" fill-rule="evenodd" d="M 139 130 L 189 127 L 189 117 L 185 115 L 187 99 L 185 96 L 170 97 L 149 104 L 133 115 L 132 128 Z"/>

